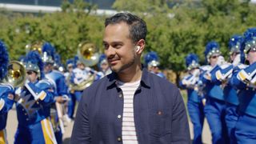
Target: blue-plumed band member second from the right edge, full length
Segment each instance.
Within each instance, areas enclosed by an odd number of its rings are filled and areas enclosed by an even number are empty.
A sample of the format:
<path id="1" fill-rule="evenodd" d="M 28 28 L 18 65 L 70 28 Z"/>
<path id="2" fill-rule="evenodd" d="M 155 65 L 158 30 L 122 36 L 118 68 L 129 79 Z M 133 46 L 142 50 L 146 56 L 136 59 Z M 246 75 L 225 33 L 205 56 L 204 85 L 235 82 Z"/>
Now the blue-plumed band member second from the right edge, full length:
<path id="1" fill-rule="evenodd" d="M 223 93 L 226 101 L 226 127 L 228 130 L 230 143 L 236 143 L 234 137 L 234 126 L 238 121 L 238 95 L 237 90 L 230 84 L 230 78 L 232 76 L 235 66 L 238 66 L 240 62 L 240 49 L 243 44 L 243 37 L 240 35 L 234 35 L 230 38 L 230 60 L 232 63 L 226 63 L 218 67 L 215 74 L 212 75 L 212 82 L 218 83 L 224 87 Z"/>

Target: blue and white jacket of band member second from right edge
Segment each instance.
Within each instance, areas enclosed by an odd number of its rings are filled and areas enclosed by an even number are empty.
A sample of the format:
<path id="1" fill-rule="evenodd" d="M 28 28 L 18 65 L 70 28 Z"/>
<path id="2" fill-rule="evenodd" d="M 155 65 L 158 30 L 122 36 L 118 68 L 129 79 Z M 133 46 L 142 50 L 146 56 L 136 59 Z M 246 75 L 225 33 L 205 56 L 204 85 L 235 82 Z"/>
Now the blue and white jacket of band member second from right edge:
<path id="1" fill-rule="evenodd" d="M 221 85 L 222 82 L 226 81 L 226 86 L 223 89 L 224 99 L 226 102 L 238 106 L 238 94 L 237 90 L 230 84 L 230 78 L 232 76 L 234 66 L 226 64 L 225 66 L 219 66 L 216 73 L 212 75 L 212 82 L 217 85 Z M 223 78 L 222 78 L 223 77 Z M 224 78 L 225 77 L 225 78 Z"/>

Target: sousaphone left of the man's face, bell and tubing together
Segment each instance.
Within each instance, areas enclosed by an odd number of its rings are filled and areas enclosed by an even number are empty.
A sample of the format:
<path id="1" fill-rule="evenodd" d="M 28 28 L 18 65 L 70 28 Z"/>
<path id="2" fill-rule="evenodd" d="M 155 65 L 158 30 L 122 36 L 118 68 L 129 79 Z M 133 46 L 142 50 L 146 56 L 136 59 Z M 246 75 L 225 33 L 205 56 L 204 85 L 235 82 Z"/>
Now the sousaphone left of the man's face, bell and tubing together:
<path id="1" fill-rule="evenodd" d="M 94 66 L 98 63 L 99 53 L 97 48 L 93 43 L 82 42 L 78 45 L 78 58 L 86 66 Z M 94 82 L 95 75 L 90 74 L 90 76 L 83 82 L 79 84 L 70 83 L 70 93 L 74 93 L 74 90 L 85 90 L 86 87 L 90 86 Z M 70 78 L 68 78 L 70 81 Z"/>

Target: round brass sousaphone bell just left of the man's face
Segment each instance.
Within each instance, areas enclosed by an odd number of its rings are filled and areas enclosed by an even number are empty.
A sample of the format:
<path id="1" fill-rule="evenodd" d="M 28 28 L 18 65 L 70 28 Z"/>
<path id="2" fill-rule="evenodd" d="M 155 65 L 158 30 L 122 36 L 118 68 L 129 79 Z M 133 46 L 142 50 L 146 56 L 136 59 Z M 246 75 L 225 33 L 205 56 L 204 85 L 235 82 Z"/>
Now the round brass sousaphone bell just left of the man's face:
<path id="1" fill-rule="evenodd" d="M 82 42 L 78 45 L 78 58 L 86 66 L 94 66 L 98 63 L 99 53 L 93 43 Z"/>

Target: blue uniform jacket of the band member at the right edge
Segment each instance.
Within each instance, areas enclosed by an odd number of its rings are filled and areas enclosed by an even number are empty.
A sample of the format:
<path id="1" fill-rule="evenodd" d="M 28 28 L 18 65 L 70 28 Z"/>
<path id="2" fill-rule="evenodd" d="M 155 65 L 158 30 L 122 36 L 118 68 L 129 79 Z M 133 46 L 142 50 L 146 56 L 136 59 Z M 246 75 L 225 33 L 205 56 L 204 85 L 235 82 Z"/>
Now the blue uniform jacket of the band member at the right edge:
<path id="1" fill-rule="evenodd" d="M 256 70 L 256 62 L 247 66 L 244 69 L 236 70 L 235 74 L 231 78 L 232 85 L 237 87 L 239 107 L 238 110 L 241 114 L 249 114 L 256 117 L 256 90 L 253 87 L 247 85 L 244 79 L 250 79 L 250 74 L 253 74 Z"/>

